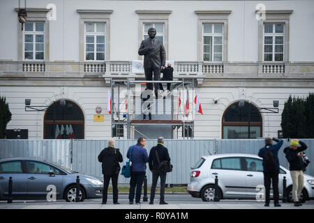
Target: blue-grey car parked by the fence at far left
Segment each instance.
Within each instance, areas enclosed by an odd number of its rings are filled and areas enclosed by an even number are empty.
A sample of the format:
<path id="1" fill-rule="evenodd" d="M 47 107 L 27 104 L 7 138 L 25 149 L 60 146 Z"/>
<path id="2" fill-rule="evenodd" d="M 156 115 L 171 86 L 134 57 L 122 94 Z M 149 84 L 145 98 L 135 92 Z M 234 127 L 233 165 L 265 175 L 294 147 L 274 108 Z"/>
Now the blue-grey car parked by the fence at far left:
<path id="1" fill-rule="evenodd" d="M 8 198 L 8 180 L 13 180 L 13 199 L 46 199 L 48 185 L 56 187 L 57 199 L 75 201 L 76 178 L 80 176 L 80 201 L 103 196 L 103 182 L 78 174 L 59 164 L 33 158 L 0 160 L 0 200 Z"/>

